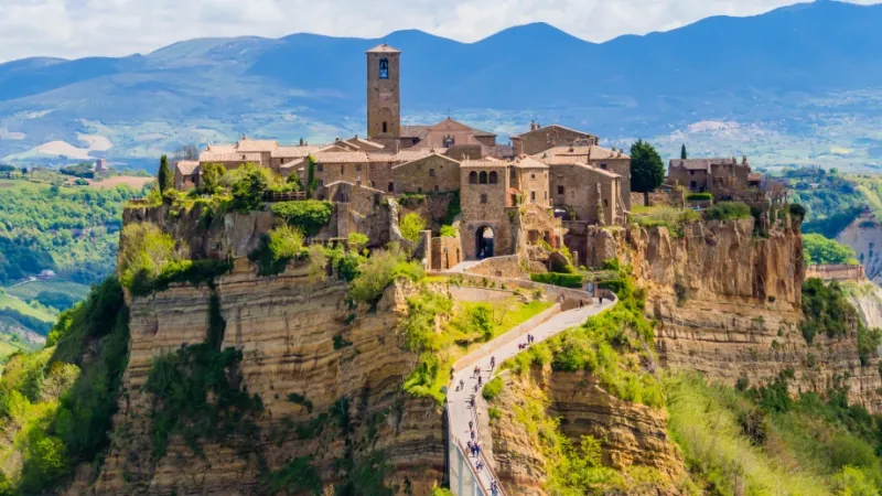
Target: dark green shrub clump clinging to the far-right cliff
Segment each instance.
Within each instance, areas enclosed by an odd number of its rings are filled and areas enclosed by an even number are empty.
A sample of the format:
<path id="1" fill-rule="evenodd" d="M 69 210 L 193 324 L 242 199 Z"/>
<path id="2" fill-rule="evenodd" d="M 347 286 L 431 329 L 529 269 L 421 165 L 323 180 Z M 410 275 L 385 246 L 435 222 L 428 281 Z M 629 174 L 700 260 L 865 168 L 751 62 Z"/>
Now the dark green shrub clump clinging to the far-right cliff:
<path id="1" fill-rule="evenodd" d="M 839 283 L 832 281 L 825 285 L 817 278 L 803 283 L 803 313 L 806 319 L 799 328 L 808 344 L 820 333 L 829 337 L 845 336 L 849 324 L 860 322 L 857 310 L 849 303 Z"/>

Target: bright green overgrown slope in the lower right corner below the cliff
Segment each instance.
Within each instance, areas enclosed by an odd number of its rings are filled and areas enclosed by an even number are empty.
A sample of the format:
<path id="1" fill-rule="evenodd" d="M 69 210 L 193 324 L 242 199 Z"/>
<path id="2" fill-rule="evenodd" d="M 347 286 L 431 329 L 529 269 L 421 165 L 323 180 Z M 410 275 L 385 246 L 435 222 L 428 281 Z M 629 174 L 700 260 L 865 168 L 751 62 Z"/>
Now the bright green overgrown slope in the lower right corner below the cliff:
<path id="1" fill-rule="evenodd" d="M 693 479 L 721 495 L 878 495 L 880 421 L 840 389 L 827 402 L 790 399 L 788 377 L 743 391 L 698 375 L 666 379 L 669 430 Z"/>

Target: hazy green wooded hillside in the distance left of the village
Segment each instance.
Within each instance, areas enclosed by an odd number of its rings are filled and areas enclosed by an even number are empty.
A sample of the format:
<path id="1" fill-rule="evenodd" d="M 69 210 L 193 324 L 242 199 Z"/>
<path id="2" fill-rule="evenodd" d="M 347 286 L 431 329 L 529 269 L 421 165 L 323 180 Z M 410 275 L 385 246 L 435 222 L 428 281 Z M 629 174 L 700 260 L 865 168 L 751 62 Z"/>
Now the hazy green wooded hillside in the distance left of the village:
<path id="1" fill-rule="evenodd" d="M 92 284 L 114 271 L 122 205 L 143 192 L 10 184 L 0 187 L 0 284 L 42 270 Z"/>

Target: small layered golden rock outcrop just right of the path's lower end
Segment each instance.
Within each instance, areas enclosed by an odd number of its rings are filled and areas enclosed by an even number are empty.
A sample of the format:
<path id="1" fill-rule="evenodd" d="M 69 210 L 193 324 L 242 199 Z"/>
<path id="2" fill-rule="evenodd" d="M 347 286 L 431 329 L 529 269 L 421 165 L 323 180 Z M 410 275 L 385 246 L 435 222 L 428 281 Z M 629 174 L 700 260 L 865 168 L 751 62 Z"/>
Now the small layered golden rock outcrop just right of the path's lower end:
<path id="1" fill-rule="evenodd" d="M 559 429 L 573 445 L 583 435 L 601 441 L 603 464 L 625 474 L 626 489 L 614 494 L 680 494 L 686 477 L 682 457 L 667 434 L 664 409 L 622 401 L 603 390 L 587 371 L 556 373 L 550 367 L 534 367 L 524 377 L 507 377 L 503 393 L 493 403 L 502 416 L 491 422 L 493 455 L 503 487 L 509 494 L 546 496 L 544 486 L 551 465 L 541 450 L 548 443 L 540 425 L 531 431 L 524 425 L 529 403 L 542 405 L 542 413 L 559 419 Z M 654 483 L 628 476 L 641 468 L 657 471 Z"/>

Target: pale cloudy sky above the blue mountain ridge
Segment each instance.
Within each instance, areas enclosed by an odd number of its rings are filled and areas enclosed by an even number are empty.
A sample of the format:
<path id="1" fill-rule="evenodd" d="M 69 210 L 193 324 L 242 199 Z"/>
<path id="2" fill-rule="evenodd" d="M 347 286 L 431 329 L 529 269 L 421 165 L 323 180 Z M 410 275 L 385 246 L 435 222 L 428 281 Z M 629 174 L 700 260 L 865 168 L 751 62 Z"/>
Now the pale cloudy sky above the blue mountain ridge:
<path id="1" fill-rule="evenodd" d="M 878 3 L 882 0 L 856 0 Z M 149 53 L 206 36 L 297 32 L 379 37 L 402 29 L 473 42 L 544 21 L 602 42 L 793 0 L 0 0 L 0 62 Z"/>

